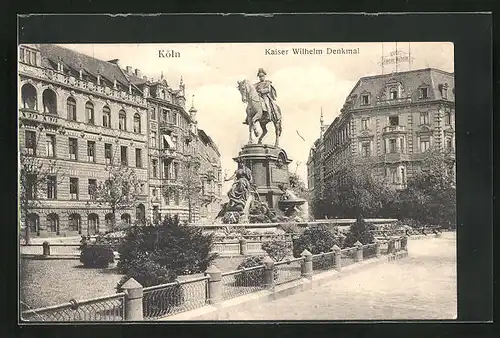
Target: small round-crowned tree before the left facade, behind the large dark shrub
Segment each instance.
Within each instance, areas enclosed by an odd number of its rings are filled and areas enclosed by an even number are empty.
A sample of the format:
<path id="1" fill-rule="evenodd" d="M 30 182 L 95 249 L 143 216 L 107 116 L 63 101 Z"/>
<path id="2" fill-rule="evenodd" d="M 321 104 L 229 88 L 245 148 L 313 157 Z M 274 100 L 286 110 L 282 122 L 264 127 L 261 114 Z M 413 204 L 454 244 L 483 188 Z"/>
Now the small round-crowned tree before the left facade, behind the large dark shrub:
<path id="1" fill-rule="evenodd" d="M 116 228 L 116 211 L 132 208 L 138 200 L 141 182 L 134 169 L 125 165 L 108 166 L 105 168 L 107 179 L 101 181 L 93 188 L 93 195 L 99 206 L 111 209 L 113 219 L 111 230 Z"/>

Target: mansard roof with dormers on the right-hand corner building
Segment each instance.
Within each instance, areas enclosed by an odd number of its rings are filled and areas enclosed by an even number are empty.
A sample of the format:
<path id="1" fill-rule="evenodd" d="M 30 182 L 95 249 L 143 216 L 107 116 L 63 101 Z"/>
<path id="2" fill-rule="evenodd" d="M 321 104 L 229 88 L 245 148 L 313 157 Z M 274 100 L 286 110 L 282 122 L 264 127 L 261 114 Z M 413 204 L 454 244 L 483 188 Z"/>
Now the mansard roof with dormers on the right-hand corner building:
<path id="1" fill-rule="evenodd" d="M 448 85 L 448 101 L 455 101 L 455 79 L 454 73 L 448 73 L 435 68 L 417 69 L 406 72 L 366 76 L 359 79 L 351 93 L 346 99 L 346 103 L 351 109 L 369 108 L 376 105 L 377 100 L 386 100 L 384 94 L 387 87 L 401 84 L 401 97 L 411 97 L 412 102 L 419 101 L 419 91 L 421 87 L 428 87 L 428 100 L 441 99 L 440 88 Z M 368 105 L 361 105 L 361 95 L 369 94 L 371 99 Z"/>

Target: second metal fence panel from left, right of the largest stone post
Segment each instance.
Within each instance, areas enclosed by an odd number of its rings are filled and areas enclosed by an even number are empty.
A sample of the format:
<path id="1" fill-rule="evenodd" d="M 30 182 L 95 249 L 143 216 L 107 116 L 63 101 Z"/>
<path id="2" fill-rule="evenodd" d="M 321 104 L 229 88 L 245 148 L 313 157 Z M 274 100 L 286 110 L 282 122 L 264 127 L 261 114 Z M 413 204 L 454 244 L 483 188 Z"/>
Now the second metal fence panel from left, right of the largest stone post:
<path id="1" fill-rule="evenodd" d="M 208 299 L 208 277 L 146 287 L 143 317 L 156 319 L 204 306 Z"/>

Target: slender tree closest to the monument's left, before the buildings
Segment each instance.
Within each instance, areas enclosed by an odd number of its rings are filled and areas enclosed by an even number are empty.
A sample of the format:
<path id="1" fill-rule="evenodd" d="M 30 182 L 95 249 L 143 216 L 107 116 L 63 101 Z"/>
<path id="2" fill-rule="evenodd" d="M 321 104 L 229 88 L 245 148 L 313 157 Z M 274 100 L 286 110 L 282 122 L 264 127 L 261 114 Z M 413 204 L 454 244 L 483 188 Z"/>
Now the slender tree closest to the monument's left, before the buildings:
<path id="1" fill-rule="evenodd" d="M 188 222 L 193 221 L 193 211 L 200 202 L 201 191 L 200 161 L 193 156 L 188 156 L 187 159 L 181 162 L 176 182 L 162 187 L 163 195 L 167 198 L 175 196 L 187 201 Z"/>

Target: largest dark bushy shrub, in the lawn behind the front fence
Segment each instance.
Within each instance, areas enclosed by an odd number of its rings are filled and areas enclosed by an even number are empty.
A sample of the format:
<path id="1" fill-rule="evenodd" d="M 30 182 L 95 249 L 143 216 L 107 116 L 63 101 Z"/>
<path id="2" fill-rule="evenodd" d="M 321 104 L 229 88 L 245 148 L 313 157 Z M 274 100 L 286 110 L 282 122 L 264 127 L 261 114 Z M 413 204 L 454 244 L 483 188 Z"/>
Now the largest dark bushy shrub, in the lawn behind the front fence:
<path id="1" fill-rule="evenodd" d="M 157 227 L 131 227 L 120 245 L 118 269 L 144 287 L 172 282 L 179 275 L 204 272 L 217 254 L 213 235 L 166 218 Z M 119 284 L 119 286 L 121 286 Z"/>

